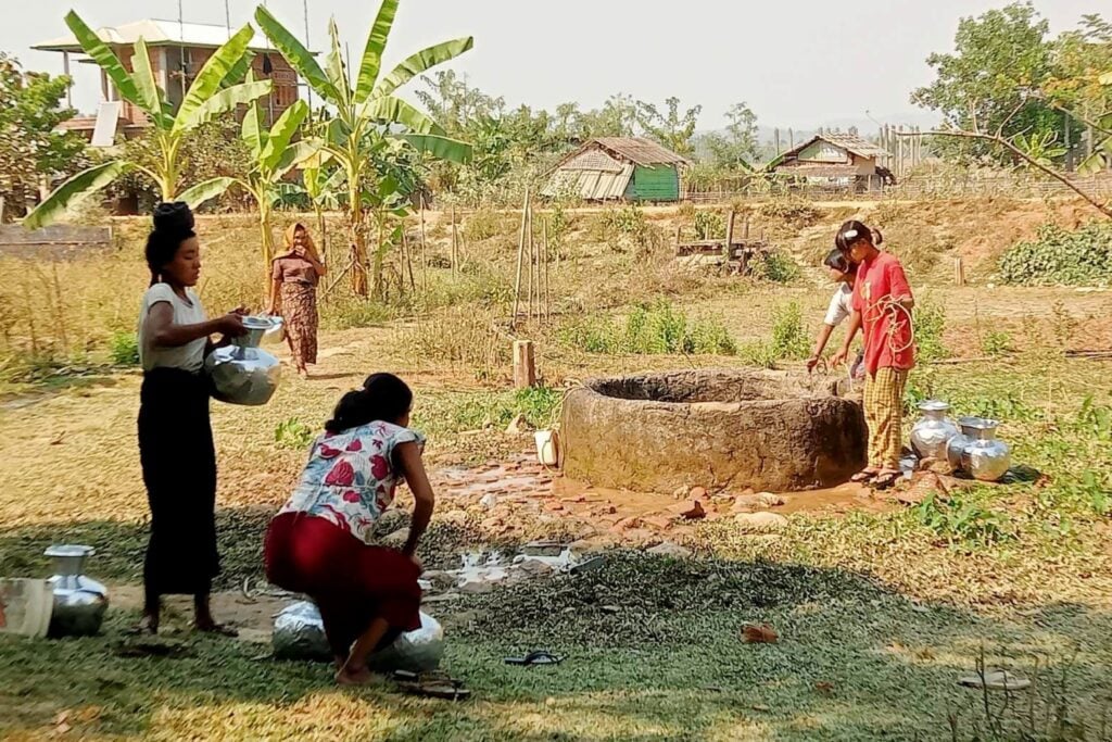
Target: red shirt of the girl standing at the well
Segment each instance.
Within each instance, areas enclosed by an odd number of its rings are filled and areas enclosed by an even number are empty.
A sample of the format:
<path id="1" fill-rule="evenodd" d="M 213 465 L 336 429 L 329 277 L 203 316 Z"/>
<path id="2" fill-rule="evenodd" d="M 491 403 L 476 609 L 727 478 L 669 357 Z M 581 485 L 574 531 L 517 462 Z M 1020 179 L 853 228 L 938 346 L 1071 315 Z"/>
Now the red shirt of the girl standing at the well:
<path id="1" fill-rule="evenodd" d="M 885 299 L 909 298 L 911 295 L 903 266 L 891 253 L 881 253 L 857 266 L 853 308 L 861 313 L 865 370 L 870 374 L 875 374 L 877 368 L 907 370 L 915 365 L 907 315 L 882 304 Z"/>

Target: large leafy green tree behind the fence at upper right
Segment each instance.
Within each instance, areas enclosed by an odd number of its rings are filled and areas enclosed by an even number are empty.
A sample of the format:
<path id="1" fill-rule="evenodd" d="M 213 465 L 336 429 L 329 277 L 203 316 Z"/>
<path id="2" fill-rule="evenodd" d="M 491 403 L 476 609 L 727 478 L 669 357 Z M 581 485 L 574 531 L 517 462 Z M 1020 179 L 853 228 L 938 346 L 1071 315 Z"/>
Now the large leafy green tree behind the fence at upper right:
<path id="1" fill-rule="evenodd" d="M 999 131 L 1004 137 L 1025 132 L 1060 137 L 1062 117 L 1032 91 L 1051 78 L 1052 47 L 1048 22 L 1031 2 L 1015 2 L 957 24 L 953 53 L 934 53 L 930 86 L 912 93 L 912 101 L 939 111 L 950 128 Z M 951 157 L 1013 158 L 976 140 L 944 140 L 941 154 Z"/>

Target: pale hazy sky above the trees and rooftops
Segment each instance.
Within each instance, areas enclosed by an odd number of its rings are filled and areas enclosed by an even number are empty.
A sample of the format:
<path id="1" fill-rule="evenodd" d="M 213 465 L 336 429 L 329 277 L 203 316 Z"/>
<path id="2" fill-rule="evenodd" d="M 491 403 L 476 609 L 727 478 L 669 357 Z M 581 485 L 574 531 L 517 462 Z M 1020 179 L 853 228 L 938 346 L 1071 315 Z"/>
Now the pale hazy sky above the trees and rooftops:
<path id="1" fill-rule="evenodd" d="M 256 2 L 228 0 L 234 24 Z M 30 68 L 60 72 L 61 55 L 32 52 L 31 43 L 67 32 L 62 16 L 77 9 L 91 26 L 142 18 L 177 19 L 177 0 L 3 0 L 0 49 Z M 187 21 L 224 24 L 224 0 L 185 0 Z M 301 0 L 269 0 L 300 34 Z M 731 103 L 744 100 L 764 126 L 813 128 L 878 119 L 911 122 L 910 91 L 931 80 L 924 60 L 952 48 L 957 20 L 1002 7 L 1003 0 L 405 0 L 387 50 L 396 61 L 458 36 L 475 49 L 455 68 L 508 102 L 584 108 L 610 93 L 702 103 L 701 129 L 719 127 Z M 1104 0 L 1037 0 L 1056 32 L 1083 13 L 1108 12 Z M 18 11 L 12 12 L 18 7 Z M 309 0 L 314 48 L 336 16 L 353 59 L 363 49 L 375 0 Z M 93 110 L 99 86 L 76 75 L 75 105 Z M 920 113 L 920 116 L 922 116 Z"/>

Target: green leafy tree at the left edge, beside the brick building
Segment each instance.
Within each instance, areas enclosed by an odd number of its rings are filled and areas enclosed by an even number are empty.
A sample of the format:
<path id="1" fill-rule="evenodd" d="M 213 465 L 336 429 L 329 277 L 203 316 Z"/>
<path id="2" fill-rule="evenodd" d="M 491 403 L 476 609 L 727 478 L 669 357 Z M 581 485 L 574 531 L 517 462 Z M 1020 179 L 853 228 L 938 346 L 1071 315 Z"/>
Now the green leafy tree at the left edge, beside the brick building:
<path id="1" fill-rule="evenodd" d="M 58 125 L 73 117 L 61 106 L 68 77 L 24 72 L 19 61 L 0 52 L 0 197 L 4 218 L 22 214 L 27 195 L 43 177 L 72 174 L 88 162 L 85 141 Z"/>

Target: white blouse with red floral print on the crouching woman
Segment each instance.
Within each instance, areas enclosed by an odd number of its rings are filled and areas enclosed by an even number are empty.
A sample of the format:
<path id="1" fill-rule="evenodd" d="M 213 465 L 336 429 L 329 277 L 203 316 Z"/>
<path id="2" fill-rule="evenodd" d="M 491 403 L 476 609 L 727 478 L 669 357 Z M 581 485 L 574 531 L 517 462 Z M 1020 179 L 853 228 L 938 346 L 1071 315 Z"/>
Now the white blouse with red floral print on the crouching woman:
<path id="1" fill-rule="evenodd" d="M 394 465 L 394 449 L 403 443 L 424 448 L 425 438 L 383 422 L 326 433 L 312 444 L 301 481 L 281 512 L 322 517 L 359 541 L 374 543 L 375 522 L 404 479 Z"/>

